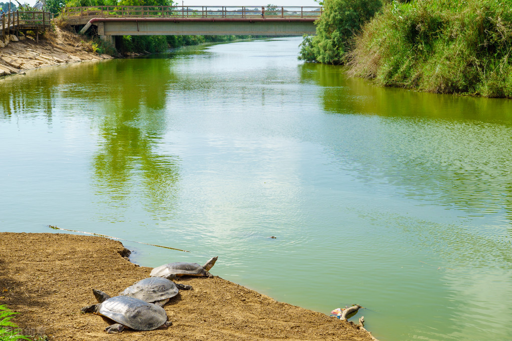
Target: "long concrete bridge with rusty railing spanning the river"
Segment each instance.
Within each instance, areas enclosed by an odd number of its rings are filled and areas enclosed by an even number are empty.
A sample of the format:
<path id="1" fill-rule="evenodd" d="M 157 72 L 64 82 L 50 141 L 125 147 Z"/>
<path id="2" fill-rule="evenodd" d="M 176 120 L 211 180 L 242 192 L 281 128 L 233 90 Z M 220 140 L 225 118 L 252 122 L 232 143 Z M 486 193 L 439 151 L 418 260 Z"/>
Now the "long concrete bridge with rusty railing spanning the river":
<path id="1" fill-rule="evenodd" d="M 67 7 L 70 25 L 96 25 L 98 35 L 265 35 L 315 34 L 322 7 L 305 6 L 99 6 Z"/>

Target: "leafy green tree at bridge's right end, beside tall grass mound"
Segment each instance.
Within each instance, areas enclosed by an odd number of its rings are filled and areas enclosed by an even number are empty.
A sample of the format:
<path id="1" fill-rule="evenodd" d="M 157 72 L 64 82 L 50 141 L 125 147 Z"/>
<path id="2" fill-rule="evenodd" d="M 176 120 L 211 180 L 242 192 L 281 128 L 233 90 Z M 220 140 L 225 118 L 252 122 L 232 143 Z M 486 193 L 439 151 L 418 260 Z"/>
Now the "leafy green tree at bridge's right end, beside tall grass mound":
<path id="1" fill-rule="evenodd" d="M 381 0 L 325 0 L 316 21 L 316 35 L 301 44 L 299 59 L 326 64 L 345 63 L 352 37 L 382 7 Z"/>

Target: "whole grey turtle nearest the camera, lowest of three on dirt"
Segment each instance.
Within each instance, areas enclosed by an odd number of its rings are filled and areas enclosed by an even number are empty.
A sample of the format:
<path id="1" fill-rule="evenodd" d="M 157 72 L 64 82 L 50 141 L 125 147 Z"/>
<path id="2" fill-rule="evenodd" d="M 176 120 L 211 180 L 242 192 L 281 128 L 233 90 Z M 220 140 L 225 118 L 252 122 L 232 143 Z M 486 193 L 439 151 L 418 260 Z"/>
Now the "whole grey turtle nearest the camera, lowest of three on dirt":
<path id="1" fill-rule="evenodd" d="M 134 330 L 153 330 L 173 324 L 167 321 L 165 310 L 156 304 L 129 296 L 110 297 L 103 291 L 95 289 L 93 293 L 99 303 L 83 307 L 81 311 L 105 316 L 116 322 L 105 328 L 108 333 L 120 333 L 125 327 Z"/>

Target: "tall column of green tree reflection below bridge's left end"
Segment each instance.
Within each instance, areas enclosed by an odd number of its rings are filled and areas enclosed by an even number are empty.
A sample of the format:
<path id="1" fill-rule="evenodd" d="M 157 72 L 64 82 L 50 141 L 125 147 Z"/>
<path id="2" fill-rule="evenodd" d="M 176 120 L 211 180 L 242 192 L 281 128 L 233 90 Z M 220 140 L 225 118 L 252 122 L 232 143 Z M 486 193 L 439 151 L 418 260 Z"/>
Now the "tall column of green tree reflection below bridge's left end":
<path id="1" fill-rule="evenodd" d="M 169 84 L 175 77 L 162 59 L 133 59 L 98 72 L 97 83 L 108 88 L 98 122 L 102 139 L 94 170 L 115 200 L 145 197 L 148 210 L 172 210 L 179 175 L 176 156 L 158 149 L 165 131 Z"/>

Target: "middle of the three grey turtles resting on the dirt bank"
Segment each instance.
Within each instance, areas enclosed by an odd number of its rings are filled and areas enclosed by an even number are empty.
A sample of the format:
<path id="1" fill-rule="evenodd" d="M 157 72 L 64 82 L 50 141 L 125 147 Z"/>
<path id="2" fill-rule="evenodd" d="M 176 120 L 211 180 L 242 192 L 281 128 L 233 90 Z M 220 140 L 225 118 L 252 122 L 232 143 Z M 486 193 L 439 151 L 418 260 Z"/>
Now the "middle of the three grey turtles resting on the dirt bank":
<path id="1" fill-rule="evenodd" d="M 178 294 L 179 289 L 188 290 L 191 288 L 190 285 L 174 283 L 163 277 L 148 277 L 127 287 L 119 295 L 135 297 L 163 307 L 165 303 Z"/>

